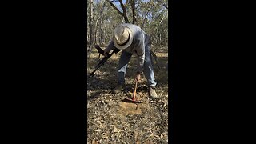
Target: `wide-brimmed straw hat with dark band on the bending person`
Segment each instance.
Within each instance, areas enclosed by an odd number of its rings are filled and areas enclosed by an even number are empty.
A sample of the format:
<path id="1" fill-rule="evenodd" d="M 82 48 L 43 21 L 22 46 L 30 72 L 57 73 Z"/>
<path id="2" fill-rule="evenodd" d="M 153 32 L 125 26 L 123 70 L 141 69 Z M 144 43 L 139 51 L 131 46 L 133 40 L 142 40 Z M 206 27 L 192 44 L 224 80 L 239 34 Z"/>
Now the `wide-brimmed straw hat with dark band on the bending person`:
<path id="1" fill-rule="evenodd" d="M 114 29 L 114 46 L 120 50 L 126 49 L 133 42 L 133 34 L 129 27 L 118 26 Z"/>

